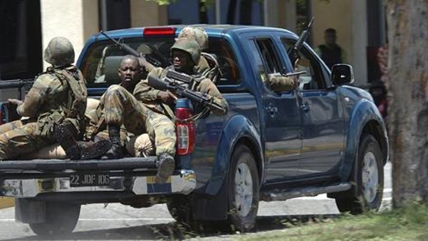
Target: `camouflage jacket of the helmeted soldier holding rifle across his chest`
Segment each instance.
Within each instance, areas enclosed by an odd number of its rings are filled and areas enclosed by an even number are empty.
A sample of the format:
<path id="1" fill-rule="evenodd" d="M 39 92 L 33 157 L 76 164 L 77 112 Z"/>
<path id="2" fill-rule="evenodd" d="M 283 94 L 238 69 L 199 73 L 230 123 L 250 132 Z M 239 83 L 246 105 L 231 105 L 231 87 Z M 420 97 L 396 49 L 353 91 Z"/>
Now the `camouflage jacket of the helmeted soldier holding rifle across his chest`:
<path id="1" fill-rule="evenodd" d="M 172 66 L 163 69 L 163 68 L 155 68 L 149 74 L 153 76 L 157 76 L 159 78 L 164 78 L 166 76 L 166 72 L 173 68 Z M 215 84 L 209 79 L 205 77 L 196 78 L 195 83 L 191 87 L 192 90 L 207 93 L 211 97 L 213 97 L 213 102 L 222 107 L 221 111 L 212 110 L 217 115 L 224 115 L 228 110 L 228 103 L 223 98 L 223 95 L 218 91 Z M 134 89 L 134 96 L 137 100 L 143 102 L 143 104 L 151 109 L 152 111 L 156 111 L 165 115 L 168 115 L 167 111 L 165 111 L 165 106 L 158 99 L 158 93 L 160 90 L 153 89 L 147 84 L 147 79 L 140 81 Z"/>

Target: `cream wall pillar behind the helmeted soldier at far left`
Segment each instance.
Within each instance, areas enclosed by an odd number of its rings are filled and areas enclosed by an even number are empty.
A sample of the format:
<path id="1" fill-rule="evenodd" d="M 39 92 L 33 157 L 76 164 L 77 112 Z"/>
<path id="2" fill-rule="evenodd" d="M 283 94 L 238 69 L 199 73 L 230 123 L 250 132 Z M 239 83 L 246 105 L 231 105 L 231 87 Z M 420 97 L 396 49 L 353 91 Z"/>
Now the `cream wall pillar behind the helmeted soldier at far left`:
<path id="1" fill-rule="evenodd" d="M 96 0 L 40 0 L 42 48 L 53 37 L 67 37 L 74 46 L 77 60 L 85 41 L 98 32 L 98 1 Z M 49 66 L 43 62 L 43 67 Z"/>

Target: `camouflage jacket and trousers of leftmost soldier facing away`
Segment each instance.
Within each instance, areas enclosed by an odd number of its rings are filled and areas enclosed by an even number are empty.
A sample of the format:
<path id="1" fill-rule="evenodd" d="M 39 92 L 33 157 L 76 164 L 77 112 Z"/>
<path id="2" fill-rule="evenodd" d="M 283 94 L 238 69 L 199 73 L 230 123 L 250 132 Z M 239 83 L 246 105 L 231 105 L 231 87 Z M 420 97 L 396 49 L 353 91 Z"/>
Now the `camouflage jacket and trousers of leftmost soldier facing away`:
<path id="1" fill-rule="evenodd" d="M 87 97 L 85 84 L 82 74 L 74 66 L 54 68 L 39 75 L 17 108 L 18 114 L 29 118 L 0 126 L 0 160 L 54 143 L 55 124 L 71 125 L 76 130 L 75 136 L 82 137 Z"/>

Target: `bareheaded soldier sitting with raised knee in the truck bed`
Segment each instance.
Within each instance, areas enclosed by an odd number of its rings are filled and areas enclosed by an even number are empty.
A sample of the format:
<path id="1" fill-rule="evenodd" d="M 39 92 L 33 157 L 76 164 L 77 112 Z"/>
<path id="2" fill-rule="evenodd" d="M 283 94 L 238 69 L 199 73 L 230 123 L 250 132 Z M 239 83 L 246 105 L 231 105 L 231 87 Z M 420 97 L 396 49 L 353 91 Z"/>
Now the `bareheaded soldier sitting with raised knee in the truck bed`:
<path id="1" fill-rule="evenodd" d="M 135 84 L 140 80 L 139 60 L 135 56 L 125 56 L 121 61 L 119 75 L 122 79 L 121 85 L 110 86 L 106 93 L 101 97 L 99 108 L 103 110 L 104 122 L 107 125 L 108 137 L 112 143 L 107 151 L 105 158 L 118 159 L 124 156 L 124 148 L 121 144 L 120 127 L 124 126 L 127 132 L 135 135 L 149 133 L 155 139 L 156 143 L 163 143 L 164 136 L 174 136 L 175 132 L 164 132 L 161 135 L 155 135 L 153 129 L 153 113 L 139 102 L 133 95 L 132 90 Z M 102 123 L 102 122 L 100 122 Z M 175 143 L 174 143 L 175 144 Z M 173 144 L 173 146 L 174 146 Z M 163 151 L 170 151 L 169 153 Z M 162 149 L 157 151 L 158 174 L 157 181 L 165 182 L 168 176 L 172 174 L 175 168 L 174 155 L 175 148 L 172 150 Z"/>

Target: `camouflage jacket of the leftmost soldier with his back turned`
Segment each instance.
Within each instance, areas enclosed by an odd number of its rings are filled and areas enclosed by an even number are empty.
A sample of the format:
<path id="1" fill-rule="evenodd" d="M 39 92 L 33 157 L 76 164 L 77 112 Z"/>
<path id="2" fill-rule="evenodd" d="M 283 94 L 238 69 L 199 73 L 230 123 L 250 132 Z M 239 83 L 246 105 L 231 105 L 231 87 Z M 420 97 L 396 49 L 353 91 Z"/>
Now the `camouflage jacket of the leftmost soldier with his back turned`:
<path id="1" fill-rule="evenodd" d="M 85 79 L 75 66 L 47 71 L 36 78 L 17 112 L 37 120 L 45 134 L 65 119 L 83 130 L 87 95 Z"/>

